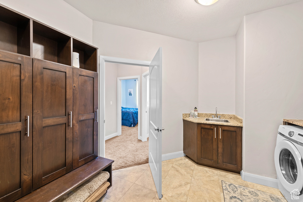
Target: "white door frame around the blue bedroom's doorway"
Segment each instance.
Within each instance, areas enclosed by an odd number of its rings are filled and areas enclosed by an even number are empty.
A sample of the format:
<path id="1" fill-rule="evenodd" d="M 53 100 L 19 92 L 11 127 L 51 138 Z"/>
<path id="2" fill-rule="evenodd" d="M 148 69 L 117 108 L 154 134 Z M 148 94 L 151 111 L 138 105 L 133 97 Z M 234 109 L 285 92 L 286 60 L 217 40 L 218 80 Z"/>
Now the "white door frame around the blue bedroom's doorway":
<path id="1" fill-rule="evenodd" d="M 121 126 L 122 126 L 122 80 L 128 80 L 128 79 L 138 79 L 138 139 L 142 141 L 141 137 L 141 108 L 140 108 L 140 75 L 138 76 L 127 76 L 127 77 L 117 77 L 117 133 L 118 136 L 121 135 Z M 104 122 L 104 121 L 103 121 Z"/>

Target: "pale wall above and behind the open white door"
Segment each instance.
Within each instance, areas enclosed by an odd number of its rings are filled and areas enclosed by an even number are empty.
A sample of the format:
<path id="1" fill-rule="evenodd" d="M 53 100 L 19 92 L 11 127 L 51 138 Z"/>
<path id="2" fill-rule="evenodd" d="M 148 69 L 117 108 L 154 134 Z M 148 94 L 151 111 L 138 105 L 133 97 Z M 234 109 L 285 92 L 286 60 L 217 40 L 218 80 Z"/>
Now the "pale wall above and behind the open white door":
<path id="1" fill-rule="evenodd" d="M 198 106 L 198 43 L 93 21 L 98 54 L 151 61 L 163 48 L 162 154 L 183 151 L 182 113 Z"/>

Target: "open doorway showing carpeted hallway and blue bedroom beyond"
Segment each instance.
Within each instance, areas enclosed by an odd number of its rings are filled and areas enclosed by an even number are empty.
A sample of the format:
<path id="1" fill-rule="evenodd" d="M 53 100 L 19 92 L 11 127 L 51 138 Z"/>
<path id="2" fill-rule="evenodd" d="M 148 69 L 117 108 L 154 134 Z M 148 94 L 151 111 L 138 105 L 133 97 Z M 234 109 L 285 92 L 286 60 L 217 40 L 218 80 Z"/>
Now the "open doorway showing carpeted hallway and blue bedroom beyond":
<path id="1" fill-rule="evenodd" d="M 115 161 L 113 170 L 148 163 L 147 129 L 142 135 L 142 127 L 147 128 L 147 121 L 142 121 L 142 94 L 146 94 L 142 73 L 148 68 L 147 64 L 104 62 L 104 81 L 100 80 L 104 82 L 104 111 L 100 111 L 104 135 L 100 135 L 100 145 L 104 144 L 104 157 Z"/>

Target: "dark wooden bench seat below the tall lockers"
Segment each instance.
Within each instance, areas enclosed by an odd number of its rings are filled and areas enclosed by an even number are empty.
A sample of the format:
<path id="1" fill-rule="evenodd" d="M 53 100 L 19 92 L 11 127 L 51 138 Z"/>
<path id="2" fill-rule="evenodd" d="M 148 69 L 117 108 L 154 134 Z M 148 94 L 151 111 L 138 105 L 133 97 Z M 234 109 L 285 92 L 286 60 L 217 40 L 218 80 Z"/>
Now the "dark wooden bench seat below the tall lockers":
<path id="1" fill-rule="evenodd" d="M 77 188 L 85 181 L 89 180 L 100 171 L 109 172 L 108 182 L 110 183 L 110 188 L 112 186 L 112 163 L 114 161 L 97 157 L 94 160 L 78 167 L 77 169 L 59 177 L 58 179 L 45 184 L 44 186 L 36 189 L 30 194 L 25 195 L 24 197 L 18 199 L 18 202 L 50 202 L 56 201 L 64 194 L 69 193 L 73 189 Z"/>

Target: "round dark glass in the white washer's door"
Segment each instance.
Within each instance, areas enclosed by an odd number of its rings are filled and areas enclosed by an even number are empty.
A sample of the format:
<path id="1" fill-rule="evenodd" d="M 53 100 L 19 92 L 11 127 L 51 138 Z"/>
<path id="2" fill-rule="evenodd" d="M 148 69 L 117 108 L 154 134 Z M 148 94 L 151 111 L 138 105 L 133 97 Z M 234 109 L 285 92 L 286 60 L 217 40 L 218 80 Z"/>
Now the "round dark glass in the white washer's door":
<path id="1" fill-rule="evenodd" d="M 291 151 L 284 148 L 280 152 L 279 156 L 280 169 L 283 177 L 290 184 L 294 184 L 297 181 L 298 169 L 294 156 Z"/>

